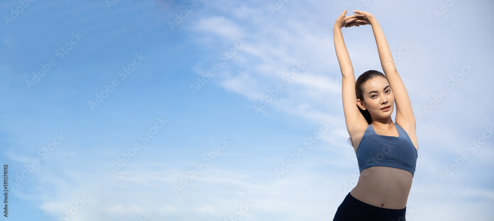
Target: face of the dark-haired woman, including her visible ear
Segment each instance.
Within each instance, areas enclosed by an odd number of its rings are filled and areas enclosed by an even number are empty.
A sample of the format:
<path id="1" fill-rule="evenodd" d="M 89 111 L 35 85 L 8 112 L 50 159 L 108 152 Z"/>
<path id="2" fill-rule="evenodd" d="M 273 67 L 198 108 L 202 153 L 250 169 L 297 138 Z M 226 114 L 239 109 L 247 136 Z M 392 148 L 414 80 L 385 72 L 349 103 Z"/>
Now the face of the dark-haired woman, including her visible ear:
<path id="1" fill-rule="evenodd" d="M 385 119 L 391 116 L 394 110 L 395 95 L 389 87 L 389 82 L 386 78 L 377 76 L 368 80 L 364 84 L 364 100 L 357 99 L 357 105 L 363 110 L 369 110 L 372 120 Z M 381 108 L 389 106 L 388 111 L 383 111 Z"/>

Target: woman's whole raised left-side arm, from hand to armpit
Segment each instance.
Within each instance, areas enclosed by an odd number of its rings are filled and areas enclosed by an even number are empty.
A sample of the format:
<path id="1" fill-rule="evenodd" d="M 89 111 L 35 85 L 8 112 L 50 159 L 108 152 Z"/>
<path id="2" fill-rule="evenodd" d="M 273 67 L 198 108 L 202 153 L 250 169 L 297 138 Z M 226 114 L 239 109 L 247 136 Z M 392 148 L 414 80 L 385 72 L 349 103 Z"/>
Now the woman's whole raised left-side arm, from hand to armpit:
<path id="1" fill-rule="evenodd" d="M 336 51 L 336 57 L 342 75 L 342 98 L 343 98 L 343 112 L 345 114 L 346 128 L 350 136 L 362 131 L 362 128 L 368 126 L 366 119 L 360 113 L 357 107 L 357 95 L 355 93 L 355 74 L 353 72 L 352 62 L 350 55 L 346 49 L 345 42 L 343 41 L 343 34 L 341 28 L 365 25 L 363 20 L 358 19 L 363 17 L 362 15 L 346 16 L 346 10 L 341 13 L 333 26 L 333 39 L 334 49 Z"/>

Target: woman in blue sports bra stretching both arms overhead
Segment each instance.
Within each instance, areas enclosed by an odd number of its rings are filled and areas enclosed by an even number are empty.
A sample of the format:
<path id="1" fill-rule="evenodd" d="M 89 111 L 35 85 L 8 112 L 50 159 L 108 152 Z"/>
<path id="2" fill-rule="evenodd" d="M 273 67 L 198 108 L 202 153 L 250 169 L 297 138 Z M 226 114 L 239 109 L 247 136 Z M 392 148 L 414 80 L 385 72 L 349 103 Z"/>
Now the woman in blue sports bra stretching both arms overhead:
<path id="1" fill-rule="evenodd" d="M 366 11 L 341 13 L 333 27 L 343 77 L 343 110 L 360 177 L 333 221 L 405 221 L 418 152 L 412 104 L 393 62 L 384 33 Z M 341 28 L 371 25 L 384 74 L 367 71 L 357 82 Z M 391 114 L 396 102 L 396 124 Z"/>

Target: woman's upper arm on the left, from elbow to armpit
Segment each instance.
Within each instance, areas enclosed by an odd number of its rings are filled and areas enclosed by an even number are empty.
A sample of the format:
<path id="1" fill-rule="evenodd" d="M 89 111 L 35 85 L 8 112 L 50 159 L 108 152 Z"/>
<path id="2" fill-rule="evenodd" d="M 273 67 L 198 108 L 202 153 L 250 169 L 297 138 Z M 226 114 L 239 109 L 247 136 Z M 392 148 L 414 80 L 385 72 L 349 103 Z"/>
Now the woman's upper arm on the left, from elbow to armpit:
<path id="1" fill-rule="evenodd" d="M 367 128 L 367 123 L 364 115 L 360 113 L 357 106 L 357 95 L 355 93 L 355 76 L 346 75 L 342 80 L 342 95 L 343 95 L 343 112 L 345 113 L 346 129 L 350 136 L 363 129 Z M 353 76 L 353 78 L 352 78 Z"/>

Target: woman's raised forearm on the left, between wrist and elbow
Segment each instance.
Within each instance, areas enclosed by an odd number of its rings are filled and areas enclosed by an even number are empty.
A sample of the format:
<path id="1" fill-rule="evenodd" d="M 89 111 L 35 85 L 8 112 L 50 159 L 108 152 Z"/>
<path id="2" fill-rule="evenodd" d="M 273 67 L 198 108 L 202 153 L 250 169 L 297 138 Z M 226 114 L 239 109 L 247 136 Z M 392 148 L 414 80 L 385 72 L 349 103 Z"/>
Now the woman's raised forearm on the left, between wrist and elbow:
<path id="1" fill-rule="evenodd" d="M 348 54 L 348 50 L 346 49 L 345 41 L 343 40 L 343 33 L 341 33 L 341 28 L 333 27 L 333 40 L 334 50 L 336 51 L 336 57 L 338 58 L 341 75 L 343 77 L 348 76 L 355 78 L 352 61 L 350 60 L 350 55 Z"/>

